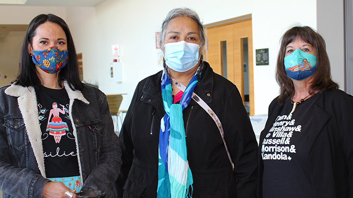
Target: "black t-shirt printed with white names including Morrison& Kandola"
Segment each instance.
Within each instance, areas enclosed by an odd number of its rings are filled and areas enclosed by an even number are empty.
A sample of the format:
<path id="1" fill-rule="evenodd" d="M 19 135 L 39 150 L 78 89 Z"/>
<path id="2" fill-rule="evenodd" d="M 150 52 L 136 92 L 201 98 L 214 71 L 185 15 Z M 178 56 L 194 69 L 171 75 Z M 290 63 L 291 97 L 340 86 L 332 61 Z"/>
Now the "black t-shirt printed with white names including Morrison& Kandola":
<path id="1" fill-rule="evenodd" d="M 284 102 L 271 129 L 260 142 L 264 164 L 263 198 L 313 198 L 309 172 L 309 136 L 317 95 L 297 105 Z"/>

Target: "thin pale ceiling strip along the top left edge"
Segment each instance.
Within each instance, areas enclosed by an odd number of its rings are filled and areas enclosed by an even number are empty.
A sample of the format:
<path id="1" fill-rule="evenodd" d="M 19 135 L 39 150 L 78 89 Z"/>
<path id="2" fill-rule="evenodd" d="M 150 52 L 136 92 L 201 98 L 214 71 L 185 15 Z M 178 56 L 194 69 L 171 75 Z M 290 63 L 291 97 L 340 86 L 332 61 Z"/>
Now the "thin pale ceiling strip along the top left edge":
<path id="1" fill-rule="evenodd" d="M 96 7 L 104 0 L 0 0 L 0 5 Z"/>

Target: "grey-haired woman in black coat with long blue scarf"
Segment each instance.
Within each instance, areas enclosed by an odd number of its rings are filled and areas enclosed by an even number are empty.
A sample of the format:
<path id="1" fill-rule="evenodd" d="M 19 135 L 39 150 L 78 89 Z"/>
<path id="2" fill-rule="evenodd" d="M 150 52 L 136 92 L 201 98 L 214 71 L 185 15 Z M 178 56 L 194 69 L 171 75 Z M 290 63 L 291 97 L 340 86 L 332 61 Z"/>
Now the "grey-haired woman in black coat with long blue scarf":
<path id="1" fill-rule="evenodd" d="M 169 12 L 164 69 L 139 83 L 119 136 L 118 197 L 256 197 L 249 117 L 235 85 L 203 61 L 204 44 L 196 12 Z"/>

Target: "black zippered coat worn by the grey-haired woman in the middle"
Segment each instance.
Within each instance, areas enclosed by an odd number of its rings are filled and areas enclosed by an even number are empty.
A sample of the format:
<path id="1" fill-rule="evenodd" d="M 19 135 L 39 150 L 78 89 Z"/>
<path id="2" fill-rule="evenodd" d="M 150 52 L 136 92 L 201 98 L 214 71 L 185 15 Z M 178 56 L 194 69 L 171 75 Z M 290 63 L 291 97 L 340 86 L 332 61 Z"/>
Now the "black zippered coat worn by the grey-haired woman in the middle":
<path id="1" fill-rule="evenodd" d="M 161 96 L 162 71 L 142 80 L 134 93 L 120 133 L 122 170 L 117 181 L 120 197 L 156 198 L 158 139 L 165 111 Z M 193 175 L 193 198 L 255 198 L 257 142 L 234 84 L 204 62 L 194 92 L 217 114 L 221 134 L 210 115 L 194 100 L 183 111 L 187 157 Z M 124 190 L 123 190 L 124 188 Z"/>

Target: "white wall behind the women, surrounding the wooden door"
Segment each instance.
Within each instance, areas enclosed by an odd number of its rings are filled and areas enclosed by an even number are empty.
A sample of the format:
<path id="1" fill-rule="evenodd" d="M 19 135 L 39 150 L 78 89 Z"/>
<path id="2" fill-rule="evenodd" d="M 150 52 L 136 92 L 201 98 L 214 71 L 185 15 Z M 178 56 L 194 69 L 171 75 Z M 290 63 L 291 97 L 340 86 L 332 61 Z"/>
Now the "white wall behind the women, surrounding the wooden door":
<path id="1" fill-rule="evenodd" d="M 303 5 L 310 12 L 299 14 Z M 278 95 L 274 72 L 280 36 L 293 23 L 316 29 L 316 0 L 105 0 L 95 10 L 70 8 L 67 22 L 82 52 L 84 80 L 107 94 L 127 93 L 121 106 L 126 110 L 137 83 L 160 69 L 154 33 L 171 9 L 182 6 L 196 10 L 204 24 L 252 14 L 253 55 L 255 49 L 269 48 L 270 59 L 269 66 L 254 66 L 255 114 L 267 113 Z M 121 46 L 123 83 L 112 83 L 108 76 L 112 44 Z"/>

